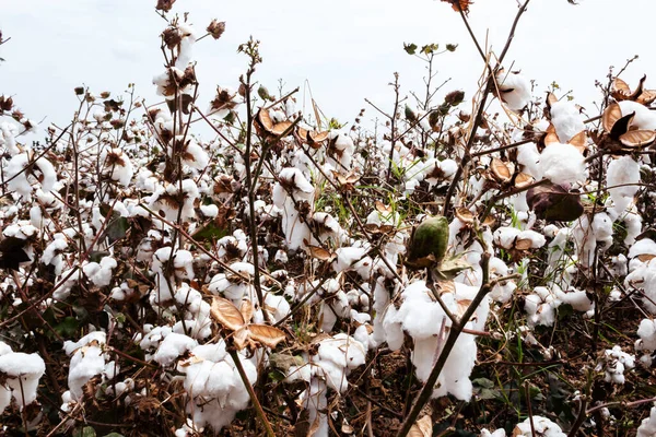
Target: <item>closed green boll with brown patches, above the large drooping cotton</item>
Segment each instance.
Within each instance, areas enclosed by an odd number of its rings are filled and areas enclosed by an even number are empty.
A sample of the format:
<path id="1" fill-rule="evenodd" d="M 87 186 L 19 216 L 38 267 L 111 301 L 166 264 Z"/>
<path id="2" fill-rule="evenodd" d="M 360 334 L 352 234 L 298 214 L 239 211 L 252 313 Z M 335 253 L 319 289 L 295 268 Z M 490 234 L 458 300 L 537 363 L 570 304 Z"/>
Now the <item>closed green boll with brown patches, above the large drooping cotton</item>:
<path id="1" fill-rule="evenodd" d="M 448 220 L 430 217 L 417 226 L 410 238 L 408 261 L 417 267 L 440 265 L 448 246 Z"/>

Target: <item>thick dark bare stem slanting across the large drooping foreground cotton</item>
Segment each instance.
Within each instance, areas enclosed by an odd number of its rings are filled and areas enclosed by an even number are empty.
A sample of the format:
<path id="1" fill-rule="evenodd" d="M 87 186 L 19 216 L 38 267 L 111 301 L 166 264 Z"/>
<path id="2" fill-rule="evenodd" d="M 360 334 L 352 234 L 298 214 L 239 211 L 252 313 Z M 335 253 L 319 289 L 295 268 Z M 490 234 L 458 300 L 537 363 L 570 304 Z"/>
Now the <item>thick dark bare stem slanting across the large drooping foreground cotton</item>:
<path id="1" fill-rule="evenodd" d="M 401 429 L 398 432 L 397 437 L 406 437 L 408 435 L 408 433 L 410 432 L 410 428 L 412 427 L 414 422 L 417 422 L 419 414 L 421 413 L 422 409 L 424 408 L 424 405 L 426 404 L 426 402 L 431 399 L 431 395 L 433 394 L 433 389 L 435 388 L 435 382 L 437 381 L 437 378 L 440 377 L 440 374 L 442 373 L 442 369 L 444 368 L 444 365 L 446 364 L 446 361 L 447 361 L 448 356 L 450 355 L 450 352 L 453 351 L 453 349 L 456 344 L 456 341 L 460 336 L 460 333 L 462 332 L 465 324 L 467 324 L 469 319 L 471 319 L 471 316 L 473 316 L 473 312 L 477 310 L 478 306 L 481 304 L 481 302 L 488 295 L 488 293 L 490 293 L 490 291 L 492 290 L 492 284 L 490 283 L 490 253 L 488 253 L 488 252 L 482 253 L 481 268 L 483 270 L 482 285 L 479 288 L 475 298 L 471 300 L 471 304 L 469 304 L 469 307 L 467 308 L 467 310 L 460 318 L 459 322 L 452 326 L 448 336 L 446 338 L 446 342 L 444 343 L 444 346 L 442 347 L 440 357 L 437 358 L 437 362 L 433 366 L 431 374 L 426 378 L 426 382 L 424 383 L 423 388 L 421 389 L 421 392 L 417 397 L 417 400 L 414 401 L 414 404 L 412 405 L 412 409 L 410 410 L 408 417 L 406 417 L 406 421 L 403 422 Z"/>

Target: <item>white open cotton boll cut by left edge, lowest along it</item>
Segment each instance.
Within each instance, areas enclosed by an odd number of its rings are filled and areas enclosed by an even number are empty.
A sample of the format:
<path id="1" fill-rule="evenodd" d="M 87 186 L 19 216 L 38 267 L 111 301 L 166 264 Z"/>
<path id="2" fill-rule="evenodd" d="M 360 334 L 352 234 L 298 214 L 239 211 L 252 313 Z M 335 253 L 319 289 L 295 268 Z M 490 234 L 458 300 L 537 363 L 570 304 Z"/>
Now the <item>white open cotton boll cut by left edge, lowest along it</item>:
<path id="1" fill-rule="evenodd" d="M 34 402 L 38 380 L 45 371 L 46 364 L 38 354 L 9 352 L 1 355 L 0 375 L 7 378 L 7 387 L 0 386 L 0 413 L 9 405 L 10 393 L 21 410 Z"/>

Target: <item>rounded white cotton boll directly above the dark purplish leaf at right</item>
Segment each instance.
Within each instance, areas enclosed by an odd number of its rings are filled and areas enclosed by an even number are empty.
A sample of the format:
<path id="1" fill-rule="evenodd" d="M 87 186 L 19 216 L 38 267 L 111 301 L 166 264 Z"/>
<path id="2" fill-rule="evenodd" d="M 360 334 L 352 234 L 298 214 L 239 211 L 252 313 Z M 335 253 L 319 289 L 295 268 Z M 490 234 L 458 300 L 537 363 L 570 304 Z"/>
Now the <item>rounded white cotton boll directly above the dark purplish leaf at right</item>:
<path id="1" fill-rule="evenodd" d="M 575 184 L 587 179 L 585 157 L 571 144 L 551 144 L 540 155 L 539 173 L 551 182 Z"/>

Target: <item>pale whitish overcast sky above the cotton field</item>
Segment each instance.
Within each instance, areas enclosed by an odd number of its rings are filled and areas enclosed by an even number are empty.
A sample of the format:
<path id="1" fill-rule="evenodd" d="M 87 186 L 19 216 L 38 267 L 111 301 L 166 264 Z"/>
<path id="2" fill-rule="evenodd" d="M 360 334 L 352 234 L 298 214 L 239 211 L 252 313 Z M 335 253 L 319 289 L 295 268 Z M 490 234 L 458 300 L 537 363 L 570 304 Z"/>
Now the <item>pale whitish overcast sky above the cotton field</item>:
<path id="1" fill-rule="evenodd" d="M 134 83 L 147 104 L 160 102 L 152 78 L 163 71 L 159 35 L 165 22 L 155 3 L 0 0 L 0 29 L 11 37 L 0 46 L 0 94 L 13 96 L 43 128 L 70 120 L 75 86 L 116 96 Z M 469 20 L 481 45 L 501 51 L 517 8 L 517 0 L 475 1 Z M 221 39 L 206 38 L 194 49 L 203 103 L 216 85 L 237 87 L 247 58 L 236 48 L 249 36 L 261 42 L 263 58 L 255 80 L 270 91 L 279 80 L 284 91 L 301 86 L 301 104 L 312 91 L 324 114 L 341 121 L 361 108 L 367 120 L 379 117 L 364 98 L 390 110 L 394 72 L 402 96 L 424 92 L 425 63 L 407 55 L 403 43 L 458 44 L 456 52 L 436 58 L 435 83 L 449 80 L 437 98 L 453 90 L 470 98 L 483 69 L 459 14 L 436 0 L 177 0 L 175 12 L 189 12 L 199 31 L 214 17 L 226 22 Z M 505 63 L 535 80 L 540 93 L 553 81 L 562 92 L 572 90 L 594 114 L 600 95 L 595 80 L 606 80 L 609 66 L 619 69 L 634 55 L 640 59 L 623 78 L 635 84 L 646 73 L 647 85 L 656 87 L 656 50 L 648 26 L 636 19 L 655 13 L 653 0 L 531 0 Z"/>

